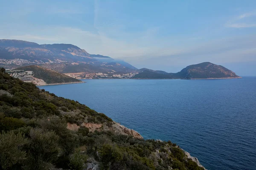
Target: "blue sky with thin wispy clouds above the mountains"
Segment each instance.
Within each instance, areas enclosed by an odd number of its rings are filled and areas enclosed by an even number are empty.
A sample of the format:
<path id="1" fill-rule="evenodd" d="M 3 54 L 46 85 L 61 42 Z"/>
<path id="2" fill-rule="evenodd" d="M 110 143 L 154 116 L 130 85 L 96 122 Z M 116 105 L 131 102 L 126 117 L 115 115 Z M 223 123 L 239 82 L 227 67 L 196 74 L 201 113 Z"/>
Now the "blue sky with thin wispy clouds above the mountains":
<path id="1" fill-rule="evenodd" d="M 0 39 L 69 43 L 137 68 L 256 76 L 256 0 L 0 0 Z"/>

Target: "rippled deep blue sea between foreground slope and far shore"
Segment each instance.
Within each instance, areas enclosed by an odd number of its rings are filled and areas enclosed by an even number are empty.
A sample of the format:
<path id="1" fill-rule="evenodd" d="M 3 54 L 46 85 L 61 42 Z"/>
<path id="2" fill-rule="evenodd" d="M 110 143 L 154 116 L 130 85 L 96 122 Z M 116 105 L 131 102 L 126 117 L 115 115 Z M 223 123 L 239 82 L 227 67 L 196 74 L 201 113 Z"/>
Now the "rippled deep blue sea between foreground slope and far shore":
<path id="1" fill-rule="evenodd" d="M 90 79 L 41 86 L 137 130 L 171 140 L 208 170 L 256 170 L 256 77 Z"/>

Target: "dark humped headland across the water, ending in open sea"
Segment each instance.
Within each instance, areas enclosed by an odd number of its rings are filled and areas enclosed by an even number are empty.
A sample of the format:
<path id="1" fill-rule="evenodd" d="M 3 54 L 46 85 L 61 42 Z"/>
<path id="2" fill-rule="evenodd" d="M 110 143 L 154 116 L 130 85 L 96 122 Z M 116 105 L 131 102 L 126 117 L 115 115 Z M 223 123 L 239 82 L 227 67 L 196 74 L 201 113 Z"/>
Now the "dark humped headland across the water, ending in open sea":
<path id="1" fill-rule="evenodd" d="M 138 70 L 134 79 L 222 79 L 241 78 L 233 71 L 211 62 L 189 65 L 177 73 L 166 73 L 164 71 L 153 71 L 147 68 Z"/>

